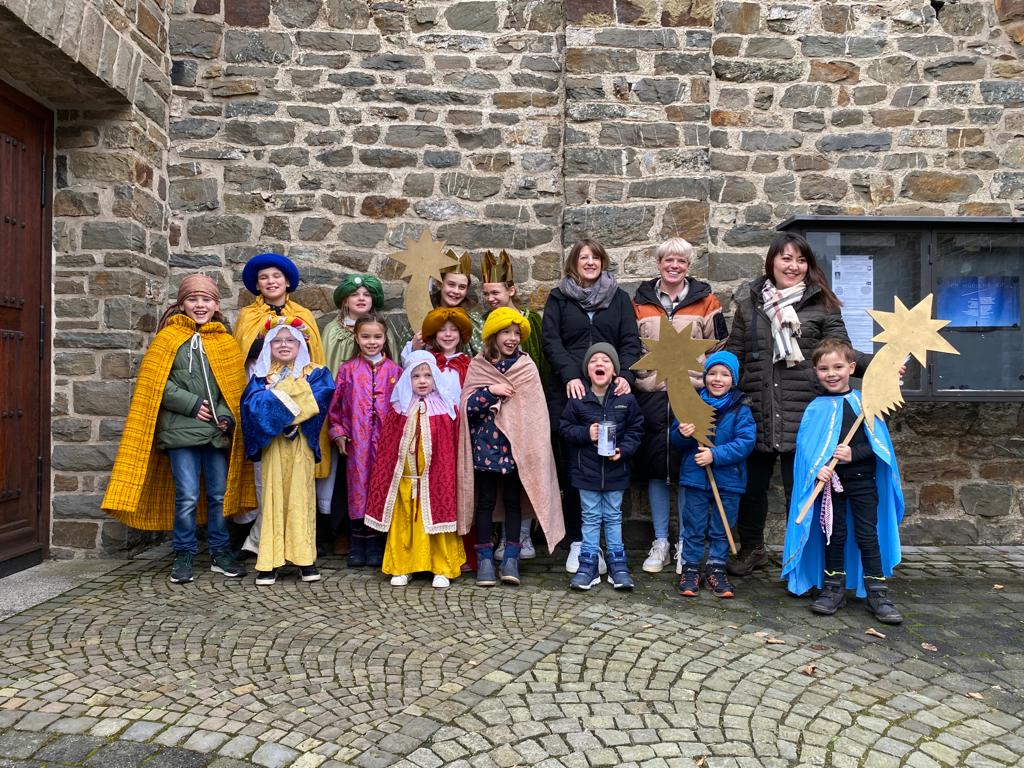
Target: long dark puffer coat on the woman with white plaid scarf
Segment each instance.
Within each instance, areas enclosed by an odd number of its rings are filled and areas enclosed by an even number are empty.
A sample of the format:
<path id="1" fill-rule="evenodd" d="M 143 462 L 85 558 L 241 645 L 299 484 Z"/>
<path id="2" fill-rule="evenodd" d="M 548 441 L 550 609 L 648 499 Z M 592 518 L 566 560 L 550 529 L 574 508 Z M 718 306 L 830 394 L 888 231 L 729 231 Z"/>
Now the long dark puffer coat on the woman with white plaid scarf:
<path id="1" fill-rule="evenodd" d="M 825 338 L 848 342 L 850 336 L 840 310 L 826 309 L 820 289 L 809 285 L 795 306 L 804 360 L 793 368 L 786 368 L 784 360 L 773 364 L 771 321 L 761 298 L 767 280 L 762 275 L 736 292 L 736 311 L 725 348 L 739 358 L 739 387 L 751 398 L 758 426 L 755 450 L 794 452 L 804 409 L 818 394 L 811 365 L 814 347 Z M 862 372 L 870 360 L 871 355 L 858 352 L 857 371 Z"/>

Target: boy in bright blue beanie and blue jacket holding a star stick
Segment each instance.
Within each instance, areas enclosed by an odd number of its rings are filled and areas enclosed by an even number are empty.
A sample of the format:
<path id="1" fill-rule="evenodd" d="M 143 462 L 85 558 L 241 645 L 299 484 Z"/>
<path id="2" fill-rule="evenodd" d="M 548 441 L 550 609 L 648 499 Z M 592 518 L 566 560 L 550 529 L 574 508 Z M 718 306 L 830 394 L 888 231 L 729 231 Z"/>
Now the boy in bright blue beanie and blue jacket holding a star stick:
<path id="1" fill-rule="evenodd" d="M 725 574 L 729 541 L 716 509 L 710 466 L 715 484 L 729 519 L 736 524 L 739 498 L 746 489 L 746 457 L 754 451 L 757 428 L 743 393 L 735 388 L 739 381 L 739 360 L 732 352 L 715 352 L 705 359 L 703 387 L 700 398 L 715 409 L 715 447 L 699 445 L 693 439 L 694 426 L 673 420 L 672 442 L 683 449 L 679 484 L 686 488 L 683 503 L 683 575 L 679 594 L 695 597 L 700 589 L 700 558 L 705 538 L 709 542 L 705 581 L 716 597 L 732 597 L 732 585 Z"/>

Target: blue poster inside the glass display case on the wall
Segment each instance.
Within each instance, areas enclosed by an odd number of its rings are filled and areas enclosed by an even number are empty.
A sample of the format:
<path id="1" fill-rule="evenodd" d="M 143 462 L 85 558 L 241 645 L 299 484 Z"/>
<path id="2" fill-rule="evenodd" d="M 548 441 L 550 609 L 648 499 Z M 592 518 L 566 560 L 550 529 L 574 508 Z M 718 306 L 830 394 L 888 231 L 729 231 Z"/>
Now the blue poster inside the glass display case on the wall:
<path id="1" fill-rule="evenodd" d="M 936 314 L 948 328 L 1020 328 L 1019 276 L 938 279 Z"/>

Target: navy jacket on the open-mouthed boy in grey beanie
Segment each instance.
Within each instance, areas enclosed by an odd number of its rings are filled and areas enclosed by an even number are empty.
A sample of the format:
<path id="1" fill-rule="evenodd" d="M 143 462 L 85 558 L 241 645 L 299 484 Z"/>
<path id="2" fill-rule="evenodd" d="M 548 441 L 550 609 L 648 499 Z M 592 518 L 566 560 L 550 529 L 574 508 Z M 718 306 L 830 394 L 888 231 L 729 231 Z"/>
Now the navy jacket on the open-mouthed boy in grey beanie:
<path id="1" fill-rule="evenodd" d="M 590 439 L 590 425 L 610 421 L 615 424 L 618 461 L 597 453 Z M 643 414 L 631 394 L 616 395 L 608 388 L 602 403 L 587 385 L 587 394 L 565 403 L 558 431 L 569 446 L 567 465 L 572 487 L 582 490 L 625 490 L 630 486 L 630 459 L 643 439 Z"/>

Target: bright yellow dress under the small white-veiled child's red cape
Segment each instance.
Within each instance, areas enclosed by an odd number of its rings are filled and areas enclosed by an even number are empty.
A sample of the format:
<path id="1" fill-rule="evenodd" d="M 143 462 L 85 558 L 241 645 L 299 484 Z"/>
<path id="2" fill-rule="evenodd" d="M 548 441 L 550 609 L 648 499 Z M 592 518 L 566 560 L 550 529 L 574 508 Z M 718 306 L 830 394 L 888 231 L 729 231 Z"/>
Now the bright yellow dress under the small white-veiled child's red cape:
<path id="1" fill-rule="evenodd" d="M 406 468 L 394 500 L 382 570 L 388 575 L 426 570 L 455 579 L 466 562 L 466 550 L 458 534 L 427 534 L 423 527 L 419 494 L 413 495 L 414 483 L 419 486 L 419 468 L 425 462 L 423 445 L 419 439 L 414 439 L 411 444 L 415 446 L 415 454 L 410 451 L 406 455 Z"/>

